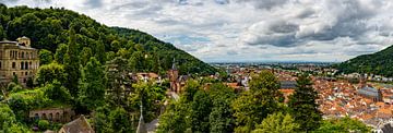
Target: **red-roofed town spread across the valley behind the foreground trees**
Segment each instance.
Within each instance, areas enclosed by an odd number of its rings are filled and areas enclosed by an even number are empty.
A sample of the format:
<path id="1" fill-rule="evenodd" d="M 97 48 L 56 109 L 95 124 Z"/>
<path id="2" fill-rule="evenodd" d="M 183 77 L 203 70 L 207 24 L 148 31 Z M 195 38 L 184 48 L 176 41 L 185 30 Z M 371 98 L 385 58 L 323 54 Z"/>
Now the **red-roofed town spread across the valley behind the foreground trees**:
<path id="1" fill-rule="evenodd" d="M 331 62 L 212 63 L 233 77 L 229 86 L 248 89 L 252 73 L 269 70 L 281 82 L 281 92 L 290 96 L 299 73 L 309 73 L 318 92 L 324 118 L 350 117 L 378 129 L 393 117 L 393 77 L 340 73 Z"/>

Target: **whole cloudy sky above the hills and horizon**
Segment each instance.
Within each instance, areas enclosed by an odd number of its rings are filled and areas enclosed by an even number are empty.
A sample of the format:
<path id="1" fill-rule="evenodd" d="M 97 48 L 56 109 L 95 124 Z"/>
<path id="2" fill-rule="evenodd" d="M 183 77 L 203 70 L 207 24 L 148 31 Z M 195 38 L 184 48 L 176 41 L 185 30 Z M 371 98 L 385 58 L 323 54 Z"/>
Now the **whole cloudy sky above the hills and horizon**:
<path id="1" fill-rule="evenodd" d="M 393 0 L 0 0 L 135 28 L 206 62 L 345 61 L 393 44 Z"/>

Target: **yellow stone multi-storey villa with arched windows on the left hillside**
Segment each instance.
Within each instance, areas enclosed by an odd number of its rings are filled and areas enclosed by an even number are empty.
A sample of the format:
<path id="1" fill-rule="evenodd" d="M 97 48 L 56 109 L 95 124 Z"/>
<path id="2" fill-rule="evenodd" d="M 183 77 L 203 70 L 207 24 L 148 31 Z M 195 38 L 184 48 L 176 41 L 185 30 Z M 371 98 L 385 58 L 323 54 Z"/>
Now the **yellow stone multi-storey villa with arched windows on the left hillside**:
<path id="1" fill-rule="evenodd" d="M 0 41 L 1 84 L 8 84 L 14 75 L 23 85 L 28 77 L 34 77 L 39 66 L 39 58 L 38 50 L 31 45 L 31 39 L 27 37 L 20 37 L 17 41 Z"/>

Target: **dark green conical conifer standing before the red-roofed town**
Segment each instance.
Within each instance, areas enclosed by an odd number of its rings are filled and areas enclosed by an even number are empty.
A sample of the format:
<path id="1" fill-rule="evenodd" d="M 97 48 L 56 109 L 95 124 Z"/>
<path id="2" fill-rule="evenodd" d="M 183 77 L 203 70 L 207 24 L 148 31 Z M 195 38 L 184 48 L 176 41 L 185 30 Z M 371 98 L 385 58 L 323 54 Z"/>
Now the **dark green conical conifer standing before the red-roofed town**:
<path id="1" fill-rule="evenodd" d="M 301 130 L 306 132 L 315 130 L 322 120 L 315 102 L 318 93 L 312 88 L 312 82 L 308 75 L 300 75 L 296 82 L 295 93 L 288 101 L 290 114 Z"/>

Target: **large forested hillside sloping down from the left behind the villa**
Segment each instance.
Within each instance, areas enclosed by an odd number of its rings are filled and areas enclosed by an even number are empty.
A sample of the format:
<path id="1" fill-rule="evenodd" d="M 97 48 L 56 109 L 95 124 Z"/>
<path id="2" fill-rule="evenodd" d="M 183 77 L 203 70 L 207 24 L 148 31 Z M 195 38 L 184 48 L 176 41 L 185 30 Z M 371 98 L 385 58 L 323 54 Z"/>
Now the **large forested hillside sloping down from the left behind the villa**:
<path id="1" fill-rule="evenodd" d="M 8 8 L 0 3 L 0 39 L 15 40 L 26 36 L 32 46 L 47 49 L 53 55 L 61 44 L 69 43 L 70 27 L 76 33 L 79 56 L 83 58 L 100 55 L 102 62 L 122 57 L 133 62 L 134 71 L 159 72 L 168 70 L 174 58 L 181 74 L 216 72 L 211 65 L 191 55 L 177 49 L 146 33 L 121 27 L 108 27 L 95 20 L 66 9 L 32 9 L 27 7 Z M 99 56 L 98 56 L 99 57 Z"/>

